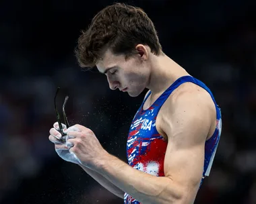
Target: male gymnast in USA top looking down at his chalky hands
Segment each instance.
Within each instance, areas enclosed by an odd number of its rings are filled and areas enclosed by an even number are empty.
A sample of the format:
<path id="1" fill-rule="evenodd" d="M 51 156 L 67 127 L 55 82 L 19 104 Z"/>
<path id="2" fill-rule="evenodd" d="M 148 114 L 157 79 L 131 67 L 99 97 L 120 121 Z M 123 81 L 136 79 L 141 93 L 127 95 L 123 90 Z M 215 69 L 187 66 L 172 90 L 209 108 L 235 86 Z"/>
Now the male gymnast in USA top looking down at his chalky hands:
<path id="1" fill-rule="evenodd" d="M 139 7 L 105 7 L 79 36 L 79 65 L 106 74 L 109 87 L 137 97 L 149 89 L 127 138 L 126 164 L 106 152 L 83 125 L 59 125 L 49 140 L 61 158 L 81 166 L 124 203 L 193 203 L 209 176 L 221 134 L 212 92 L 164 52 L 154 24 Z"/>

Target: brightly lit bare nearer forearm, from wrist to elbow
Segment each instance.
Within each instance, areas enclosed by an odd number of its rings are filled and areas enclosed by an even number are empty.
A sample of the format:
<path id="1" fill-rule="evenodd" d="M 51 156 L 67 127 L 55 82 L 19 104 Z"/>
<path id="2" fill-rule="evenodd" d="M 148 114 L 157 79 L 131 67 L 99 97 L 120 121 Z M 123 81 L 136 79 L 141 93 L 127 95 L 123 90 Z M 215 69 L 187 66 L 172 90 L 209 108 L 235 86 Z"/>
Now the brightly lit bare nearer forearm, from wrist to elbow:
<path id="1" fill-rule="evenodd" d="M 115 156 L 109 155 L 97 171 L 141 203 L 170 204 L 181 201 L 183 192 L 175 188 L 170 178 L 141 172 Z"/>

